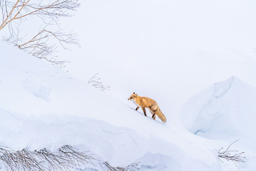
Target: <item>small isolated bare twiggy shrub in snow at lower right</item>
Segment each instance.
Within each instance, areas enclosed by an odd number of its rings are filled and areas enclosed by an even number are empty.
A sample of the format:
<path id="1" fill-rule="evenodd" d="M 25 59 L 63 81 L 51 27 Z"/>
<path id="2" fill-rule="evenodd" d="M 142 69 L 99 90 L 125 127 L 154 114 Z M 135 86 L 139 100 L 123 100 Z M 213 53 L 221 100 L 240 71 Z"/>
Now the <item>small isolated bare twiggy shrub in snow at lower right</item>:
<path id="1" fill-rule="evenodd" d="M 236 140 L 238 141 L 238 140 Z M 238 153 L 237 150 L 229 150 L 230 146 L 232 144 L 234 144 L 236 141 L 234 141 L 233 143 L 231 143 L 228 148 L 225 151 L 220 152 L 220 150 L 222 150 L 223 148 L 219 149 L 219 160 L 222 161 L 220 158 L 225 159 L 227 161 L 233 161 L 235 163 L 235 165 L 239 162 L 245 162 L 243 159 L 246 159 L 245 156 L 241 156 L 242 154 L 244 154 L 244 152 Z M 223 161 L 222 161 L 223 162 Z M 236 165 L 237 166 L 237 165 Z"/>

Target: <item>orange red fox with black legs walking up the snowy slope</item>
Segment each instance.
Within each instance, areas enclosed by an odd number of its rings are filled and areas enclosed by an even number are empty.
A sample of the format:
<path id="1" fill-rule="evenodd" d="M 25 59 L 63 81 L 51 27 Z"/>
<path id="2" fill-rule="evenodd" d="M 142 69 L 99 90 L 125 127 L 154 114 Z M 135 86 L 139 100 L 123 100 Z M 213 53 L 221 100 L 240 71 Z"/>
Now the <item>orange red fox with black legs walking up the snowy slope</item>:
<path id="1" fill-rule="evenodd" d="M 157 115 L 162 120 L 162 122 L 166 123 L 166 118 L 164 114 L 161 112 L 158 104 L 153 99 L 149 97 L 138 96 L 138 94 L 135 94 L 135 92 L 133 92 L 132 95 L 128 98 L 128 100 L 132 101 L 137 106 L 137 108 L 135 109 L 136 111 L 139 109 L 139 107 L 141 107 L 144 115 L 146 116 L 146 107 L 153 115 L 152 119 L 155 119 L 155 115 Z"/>

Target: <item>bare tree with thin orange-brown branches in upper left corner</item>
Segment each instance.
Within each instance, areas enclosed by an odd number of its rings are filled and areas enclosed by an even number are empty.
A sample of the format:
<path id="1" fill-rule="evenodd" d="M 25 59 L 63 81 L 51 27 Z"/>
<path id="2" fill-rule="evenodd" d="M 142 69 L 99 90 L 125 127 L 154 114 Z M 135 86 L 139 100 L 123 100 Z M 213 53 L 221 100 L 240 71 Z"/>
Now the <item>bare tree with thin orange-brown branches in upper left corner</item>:
<path id="1" fill-rule="evenodd" d="M 0 0 L 0 16 L 2 17 L 0 31 L 9 26 L 9 36 L 4 37 L 5 41 L 11 42 L 35 57 L 46 59 L 53 65 L 61 67 L 66 61 L 55 59 L 56 56 L 53 54 L 58 46 L 50 45 L 48 42 L 49 39 L 55 39 L 64 49 L 68 49 L 67 44 L 79 46 L 76 33 L 62 32 L 59 27 L 59 18 L 70 17 L 70 11 L 76 10 L 79 6 L 78 0 L 15 0 L 15 2 Z M 31 38 L 28 36 L 28 30 L 25 35 L 20 35 L 20 25 L 27 18 L 33 18 L 34 21 L 41 19 L 43 25 Z M 58 27 L 57 31 L 47 29 L 53 24 Z"/>

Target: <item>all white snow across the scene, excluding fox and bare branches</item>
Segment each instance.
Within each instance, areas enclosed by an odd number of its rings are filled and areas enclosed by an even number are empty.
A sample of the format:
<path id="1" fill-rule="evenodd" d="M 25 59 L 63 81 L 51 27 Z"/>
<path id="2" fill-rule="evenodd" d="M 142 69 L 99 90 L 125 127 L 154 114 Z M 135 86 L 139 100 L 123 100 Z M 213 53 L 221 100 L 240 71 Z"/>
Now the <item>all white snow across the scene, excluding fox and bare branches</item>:
<path id="1" fill-rule="evenodd" d="M 113 166 L 140 162 L 141 171 L 256 169 L 251 1 L 81 3 L 82 22 L 63 23 L 81 43 L 58 53 L 68 73 L 0 42 L 0 145 L 69 144 Z M 95 73 L 111 91 L 87 84 Z M 167 123 L 135 111 L 132 92 L 153 98 Z M 222 163 L 218 150 L 237 139 L 232 149 L 246 162 Z"/>

